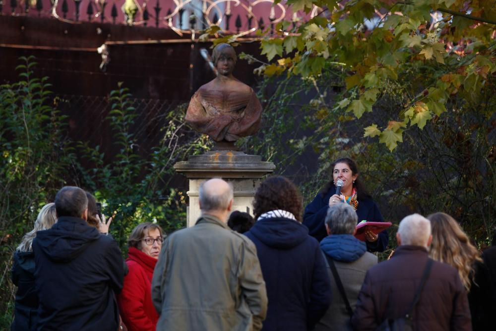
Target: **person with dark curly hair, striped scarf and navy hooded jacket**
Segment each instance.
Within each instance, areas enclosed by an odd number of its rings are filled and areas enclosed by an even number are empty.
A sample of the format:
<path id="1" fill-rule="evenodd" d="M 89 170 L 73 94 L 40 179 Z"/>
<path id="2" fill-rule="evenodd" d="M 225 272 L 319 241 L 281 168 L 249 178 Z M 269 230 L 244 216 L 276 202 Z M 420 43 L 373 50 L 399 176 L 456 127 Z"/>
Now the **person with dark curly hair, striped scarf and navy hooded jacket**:
<path id="1" fill-rule="evenodd" d="M 318 242 L 301 224 L 302 199 L 284 177 L 271 177 L 255 193 L 256 222 L 245 235 L 256 246 L 269 304 L 262 330 L 312 330 L 331 303 Z"/>

